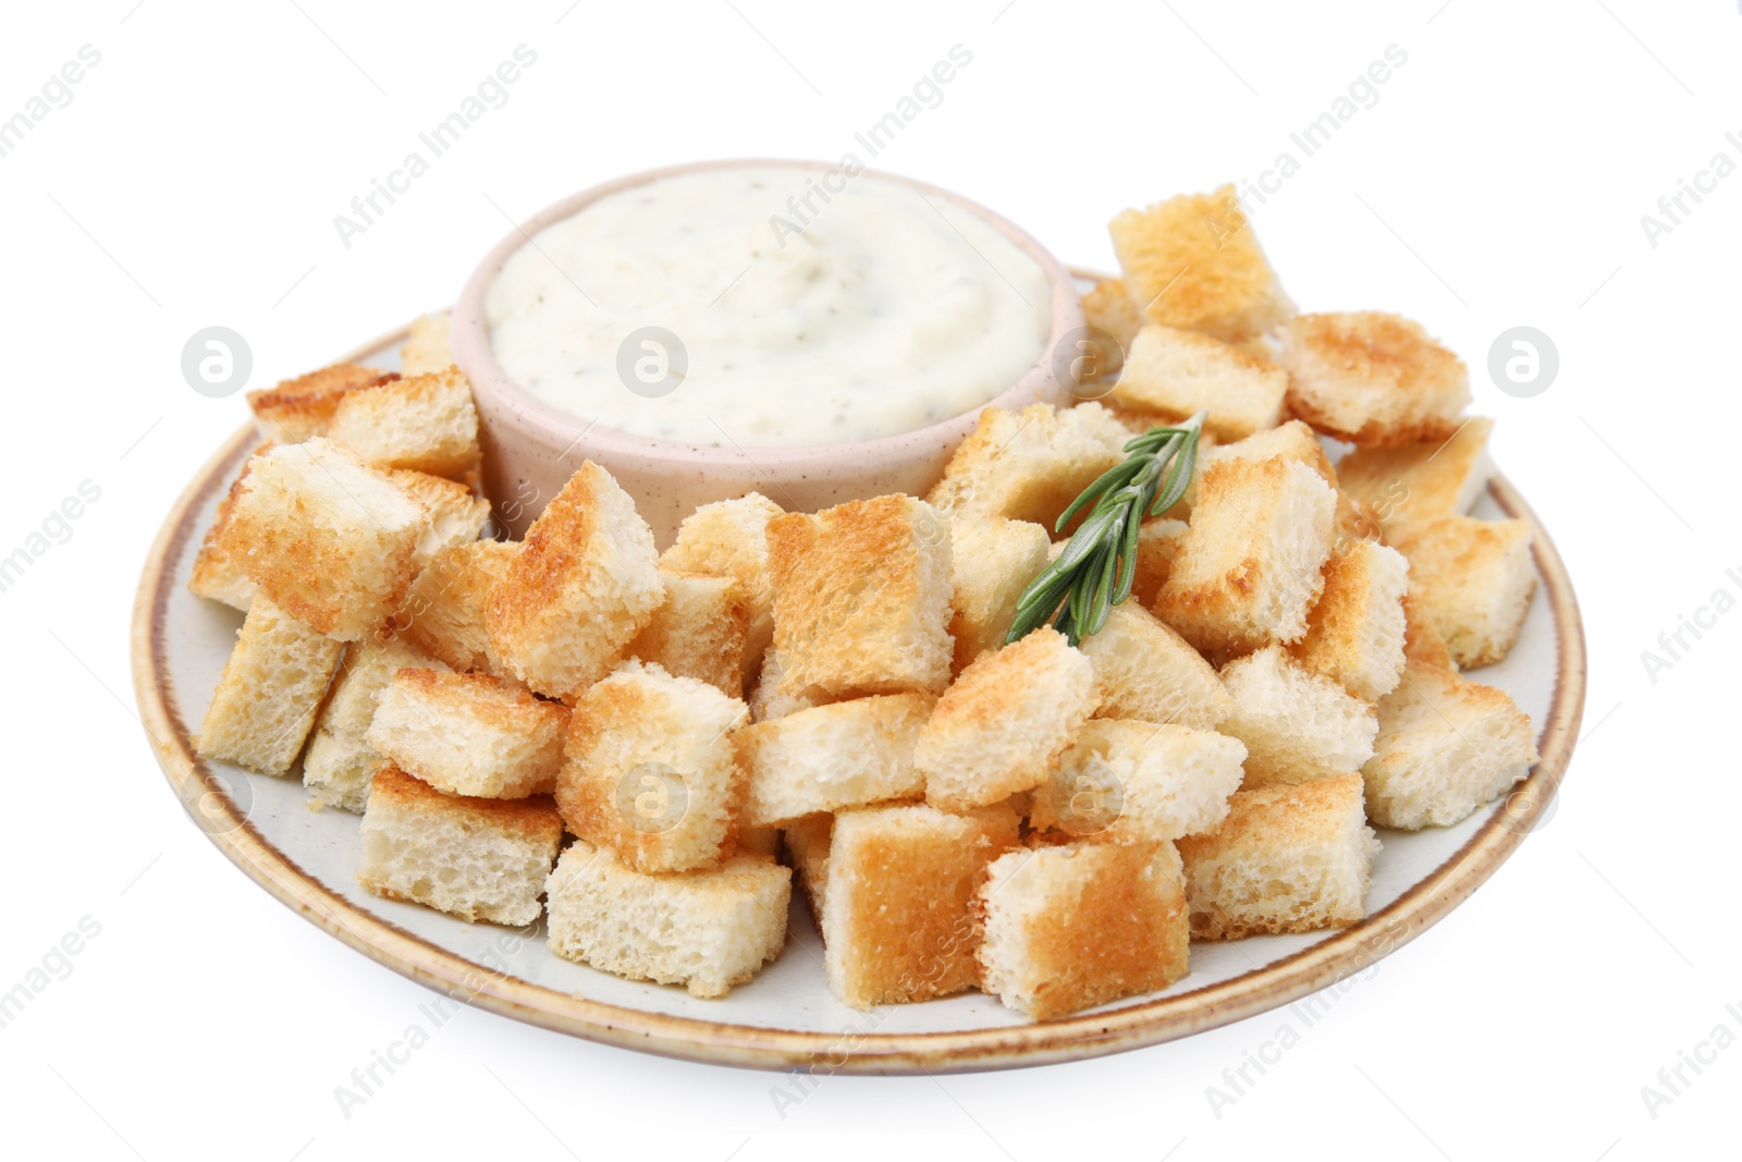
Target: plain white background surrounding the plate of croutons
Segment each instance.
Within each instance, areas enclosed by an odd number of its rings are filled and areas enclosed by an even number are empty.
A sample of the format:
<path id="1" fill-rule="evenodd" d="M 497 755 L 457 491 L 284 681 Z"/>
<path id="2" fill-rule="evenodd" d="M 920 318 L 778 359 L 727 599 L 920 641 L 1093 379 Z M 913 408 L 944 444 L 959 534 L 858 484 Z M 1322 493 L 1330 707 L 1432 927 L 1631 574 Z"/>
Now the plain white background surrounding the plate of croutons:
<path id="1" fill-rule="evenodd" d="M 0 1028 L 9 1157 L 1657 1159 L 1735 1152 L 1742 1047 L 1657 1117 L 1681 1051 L 1742 1033 L 1733 746 L 1742 613 L 1735 328 L 1742 174 L 1653 247 L 1641 214 L 1742 162 L 1733 3 L 16 5 L 0 117 L 80 45 L 101 64 L 0 157 L 0 556 L 101 498 L 0 592 L 0 990 L 101 925 Z M 364 235 L 333 216 L 519 44 L 538 61 Z M 1472 366 L 1496 456 L 1554 530 L 1590 646 L 1587 739 L 1549 824 L 1361 979 L 1219 1117 L 1205 1087 L 1282 1014 L 1045 1070 L 780 1078 L 465 1010 L 345 1118 L 333 1087 L 429 993 L 275 904 L 197 831 L 132 718 L 127 620 L 171 500 L 244 418 L 179 352 L 223 324 L 253 387 L 446 305 L 505 216 L 702 157 L 836 159 L 955 44 L 974 61 L 878 166 L 1111 263 L 1127 204 L 1254 178 L 1350 80 L 1408 63 L 1254 221 L 1308 310 L 1399 310 Z M 1298 150 L 1293 150 L 1300 157 Z M 500 207 L 500 209 L 498 209 Z M 1507 328 L 1561 355 L 1500 394 Z M 1735 578 L 1725 575 L 1737 568 Z M 89 923 L 89 922 L 87 922 Z M 498 1080 L 500 1078 L 500 1080 Z M 819 1153 L 820 1152 L 820 1153 Z"/>

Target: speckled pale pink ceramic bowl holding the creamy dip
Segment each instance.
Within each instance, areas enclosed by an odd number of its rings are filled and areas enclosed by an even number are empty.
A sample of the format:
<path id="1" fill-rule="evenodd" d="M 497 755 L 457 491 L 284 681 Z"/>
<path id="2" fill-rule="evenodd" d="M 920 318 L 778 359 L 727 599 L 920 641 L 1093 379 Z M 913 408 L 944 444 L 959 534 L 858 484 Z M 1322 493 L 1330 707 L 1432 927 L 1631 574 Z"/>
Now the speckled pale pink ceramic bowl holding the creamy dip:
<path id="1" fill-rule="evenodd" d="M 742 166 L 784 166 L 819 172 L 834 169 L 824 162 L 721 160 L 631 174 L 575 193 L 535 214 L 502 239 L 472 272 L 453 308 L 453 357 L 472 380 L 477 401 L 484 446 L 484 491 L 495 502 L 498 521 L 514 537 L 526 531 L 584 460 L 603 465 L 617 477 L 652 524 L 657 544 L 665 547 L 676 535 L 678 524 L 699 505 L 742 497 L 753 490 L 784 509 L 805 512 L 883 493 L 923 493 L 942 474 L 956 444 L 974 430 L 981 408 L 915 432 L 852 444 L 704 448 L 589 425 L 584 416 L 552 408 L 509 380 L 490 348 L 484 293 L 514 251 L 545 226 L 573 216 L 608 193 L 697 169 Z M 1068 402 L 1071 385 L 1059 382 L 1052 371 L 1050 354 L 1070 331 L 1084 326 L 1070 272 L 1040 242 L 982 206 L 909 178 L 874 176 L 915 186 L 932 199 L 955 202 L 986 220 L 1040 263 L 1052 289 L 1052 333 L 1036 364 L 984 406 L 1014 409 L 1035 401 Z"/>

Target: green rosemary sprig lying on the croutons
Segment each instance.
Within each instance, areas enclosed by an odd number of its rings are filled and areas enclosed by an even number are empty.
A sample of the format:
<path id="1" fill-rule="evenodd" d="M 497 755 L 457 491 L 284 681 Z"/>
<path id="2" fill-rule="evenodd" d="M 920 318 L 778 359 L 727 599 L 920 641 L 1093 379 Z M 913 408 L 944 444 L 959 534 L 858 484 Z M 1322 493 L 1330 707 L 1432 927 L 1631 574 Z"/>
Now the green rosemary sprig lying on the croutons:
<path id="1" fill-rule="evenodd" d="M 1056 533 L 1084 507 L 1094 507 L 1057 559 L 1028 582 L 1005 643 L 1026 638 L 1054 613 L 1054 629 L 1073 646 L 1106 625 L 1108 610 L 1131 596 L 1143 517 L 1172 509 L 1192 483 L 1204 416 L 1200 411 L 1179 427 L 1153 427 L 1136 437 L 1125 444 L 1131 456 L 1071 502 L 1054 524 Z"/>

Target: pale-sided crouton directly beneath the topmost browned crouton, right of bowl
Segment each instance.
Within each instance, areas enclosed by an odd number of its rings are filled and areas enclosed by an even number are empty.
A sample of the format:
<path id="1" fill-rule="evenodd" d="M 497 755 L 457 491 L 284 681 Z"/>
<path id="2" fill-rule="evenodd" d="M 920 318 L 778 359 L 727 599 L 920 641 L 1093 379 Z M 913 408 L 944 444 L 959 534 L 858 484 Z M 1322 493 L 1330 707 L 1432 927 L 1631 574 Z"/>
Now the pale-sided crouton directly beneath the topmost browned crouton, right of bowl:
<path id="1" fill-rule="evenodd" d="M 1174 423 L 1207 409 L 1204 429 L 1237 441 L 1277 427 L 1287 390 L 1287 371 L 1266 359 L 1197 331 L 1150 324 L 1131 345 L 1108 401 Z"/>

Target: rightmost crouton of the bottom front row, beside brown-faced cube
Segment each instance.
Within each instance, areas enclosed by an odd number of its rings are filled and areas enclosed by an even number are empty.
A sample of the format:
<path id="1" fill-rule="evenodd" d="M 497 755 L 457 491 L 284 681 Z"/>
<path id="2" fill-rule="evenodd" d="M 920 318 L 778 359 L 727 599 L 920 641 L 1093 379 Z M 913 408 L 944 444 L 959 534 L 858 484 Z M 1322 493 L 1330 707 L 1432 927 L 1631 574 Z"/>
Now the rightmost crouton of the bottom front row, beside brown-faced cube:
<path id="1" fill-rule="evenodd" d="M 1361 774 L 1237 791 L 1219 828 L 1179 840 L 1192 937 L 1357 923 L 1378 854 Z"/>

